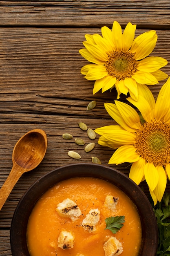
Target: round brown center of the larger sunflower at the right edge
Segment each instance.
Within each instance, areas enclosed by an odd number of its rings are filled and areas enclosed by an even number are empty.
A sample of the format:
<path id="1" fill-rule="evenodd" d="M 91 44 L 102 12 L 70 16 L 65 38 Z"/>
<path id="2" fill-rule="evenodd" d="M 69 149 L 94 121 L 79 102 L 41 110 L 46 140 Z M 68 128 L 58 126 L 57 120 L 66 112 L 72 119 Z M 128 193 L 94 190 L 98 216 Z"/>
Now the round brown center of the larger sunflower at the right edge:
<path id="1" fill-rule="evenodd" d="M 170 124 L 163 120 L 144 123 L 137 131 L 137 153 L 155 166 L 170 162 Z"/>

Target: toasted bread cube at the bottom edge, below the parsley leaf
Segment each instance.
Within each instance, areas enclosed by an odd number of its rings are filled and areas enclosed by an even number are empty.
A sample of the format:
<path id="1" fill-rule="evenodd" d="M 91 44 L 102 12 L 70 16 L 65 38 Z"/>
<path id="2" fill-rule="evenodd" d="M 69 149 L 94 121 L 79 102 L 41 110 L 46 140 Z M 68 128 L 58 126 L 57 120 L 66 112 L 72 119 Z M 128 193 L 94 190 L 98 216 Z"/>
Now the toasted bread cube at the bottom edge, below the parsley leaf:
<path id="1" fill-rule="evenodd" d="M 105 256 L 118 256 L 123 252 L 122 244 L 115 238 L 111 236 L 103 246 Z"/>

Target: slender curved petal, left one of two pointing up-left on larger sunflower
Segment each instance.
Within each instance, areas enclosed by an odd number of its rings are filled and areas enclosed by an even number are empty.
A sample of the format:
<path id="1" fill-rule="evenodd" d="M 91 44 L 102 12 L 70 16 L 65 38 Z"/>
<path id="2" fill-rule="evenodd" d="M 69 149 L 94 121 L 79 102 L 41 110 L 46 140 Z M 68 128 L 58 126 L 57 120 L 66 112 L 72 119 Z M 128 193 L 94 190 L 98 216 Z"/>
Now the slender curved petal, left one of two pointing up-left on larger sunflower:
<path id="1" fill-rule="evenodd" d="M 132 126 L 128 126 L 126 122 L 124 121 L 124 118 L 121 116 L 117 106 L 113 103 L 104 103 L 104 107 L 106 108 L 106 111 L 112 117 L 121 127 L 123 127 L 125 130 L 129 132 L 135 132 L 136 129 L 132 128 Z"/>

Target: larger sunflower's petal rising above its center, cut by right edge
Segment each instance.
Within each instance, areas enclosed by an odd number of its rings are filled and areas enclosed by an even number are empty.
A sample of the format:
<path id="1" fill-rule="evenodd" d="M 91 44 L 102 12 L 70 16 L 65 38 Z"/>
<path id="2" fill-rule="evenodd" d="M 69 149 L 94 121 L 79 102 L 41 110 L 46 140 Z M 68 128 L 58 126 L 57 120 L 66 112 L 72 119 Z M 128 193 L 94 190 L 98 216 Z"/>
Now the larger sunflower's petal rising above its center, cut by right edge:
<path id="1" fill-rule="evenodd" d="M 155 104 L 155 118 L 162 119 L 170 111 L 170 77 L 159 91 Z"/>

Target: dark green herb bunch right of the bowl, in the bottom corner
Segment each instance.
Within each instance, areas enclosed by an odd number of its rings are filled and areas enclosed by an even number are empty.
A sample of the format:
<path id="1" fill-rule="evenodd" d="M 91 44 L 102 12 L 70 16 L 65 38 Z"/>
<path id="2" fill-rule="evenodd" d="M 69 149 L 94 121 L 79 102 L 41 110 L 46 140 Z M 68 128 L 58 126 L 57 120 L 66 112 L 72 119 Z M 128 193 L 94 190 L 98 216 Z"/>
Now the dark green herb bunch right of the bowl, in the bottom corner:
<path id="1" fill-rule="evenodd" d="M 153 210 L 158 225 L 157 255 L 170 256 L 170 194 L 165 193 Z"/>

